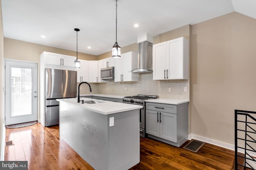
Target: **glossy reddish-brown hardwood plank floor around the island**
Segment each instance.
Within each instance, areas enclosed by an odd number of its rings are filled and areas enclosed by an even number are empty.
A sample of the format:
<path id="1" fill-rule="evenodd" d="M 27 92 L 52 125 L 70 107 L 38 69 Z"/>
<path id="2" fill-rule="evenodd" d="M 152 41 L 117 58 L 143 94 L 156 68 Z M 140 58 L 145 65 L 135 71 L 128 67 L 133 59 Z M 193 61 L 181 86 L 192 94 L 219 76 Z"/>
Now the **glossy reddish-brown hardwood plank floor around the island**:
<path id="1" fill-rule="evenodd" d="M 27 160 L 29 170 L 93 170 L 64 140 L 58 126 L 6 129 L 5 160 Z M 188 143 L 187 141 L 186 143 Z M 184 145 L 186 145 L 184 143 Z M 182 145 L 182 147 L 184 146 Z M 140 139 L 140 163 L 130 170 L 231 170 L 234 151 L 205 143 L 198 152 Z"/>

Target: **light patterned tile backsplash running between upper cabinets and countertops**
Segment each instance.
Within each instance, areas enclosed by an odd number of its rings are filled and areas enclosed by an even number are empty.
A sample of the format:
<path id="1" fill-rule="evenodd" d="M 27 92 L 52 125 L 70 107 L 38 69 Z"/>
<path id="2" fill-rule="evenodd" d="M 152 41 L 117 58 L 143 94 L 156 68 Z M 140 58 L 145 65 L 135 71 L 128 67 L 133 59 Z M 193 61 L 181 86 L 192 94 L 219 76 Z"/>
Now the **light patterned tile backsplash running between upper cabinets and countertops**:
<path id="1" fill-rule="evenodd" d="M 90 83 L 92 94 L 118 96 L 145 94 L 156 95 L 159 98 L 189 100 L 189 80 L 153 80 L 152 72 L 138 74 L 138 82 L 114 82 L 111 80 L 108 83 Z M 185 87 L 188 89 L 187 92 L 184 92 Z M 168 92 L 169 88 L 171 88 L 171 92 Z M 80 94 L 90 94 L 88 86 L 82 87 Z"/>

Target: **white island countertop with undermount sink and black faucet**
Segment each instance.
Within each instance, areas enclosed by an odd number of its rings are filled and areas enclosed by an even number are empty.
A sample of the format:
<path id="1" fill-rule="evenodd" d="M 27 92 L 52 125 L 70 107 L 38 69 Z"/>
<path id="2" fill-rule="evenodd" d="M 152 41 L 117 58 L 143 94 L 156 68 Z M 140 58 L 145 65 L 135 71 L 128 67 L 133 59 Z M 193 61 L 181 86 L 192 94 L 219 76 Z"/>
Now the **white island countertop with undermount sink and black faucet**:
<path id="1" fill-rule="evenodd" d="M 118 103 L 118 102 L 108 102 L 108 101 L 90 99 L 90 98 L 80 98 L 80 100 L 84 100 L 84 101 L 93 100 L 93 101 L 99 101 L 101 103 L 96 103 L 96 104 L 84 103 L 84 104 L 82 104 L 82 101 L 80 103 L 78 103 L 76 98 L 57 99 L 57 101 L 59 101 L 59 102 L 66 102 L 73 106 L 77 106 L 77 107 L 87 109 L 90 111 L 95 111 L 95 112 L 101 113 L 103 115 L 108 115 L 108 114 L 112 114 L 112 113 L 119 113 L 119 112 L 123 112 L 123 111 L 129 111 L 129 110 L 142 108 L 142 106 L 140 106 L 140 105 L 124 104 L 124 103 Z"/>

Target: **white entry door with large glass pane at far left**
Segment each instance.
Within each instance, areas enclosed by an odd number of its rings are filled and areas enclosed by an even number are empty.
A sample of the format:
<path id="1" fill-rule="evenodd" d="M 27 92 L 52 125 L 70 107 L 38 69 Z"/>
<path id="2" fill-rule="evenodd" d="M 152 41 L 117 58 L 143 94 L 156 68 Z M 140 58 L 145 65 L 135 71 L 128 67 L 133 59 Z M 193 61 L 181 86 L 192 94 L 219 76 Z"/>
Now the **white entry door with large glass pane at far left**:
<path id="1" fill-rule="evenodd" d="M 37 64 L 5 61 L 5 125 L 38 119 Z"/>

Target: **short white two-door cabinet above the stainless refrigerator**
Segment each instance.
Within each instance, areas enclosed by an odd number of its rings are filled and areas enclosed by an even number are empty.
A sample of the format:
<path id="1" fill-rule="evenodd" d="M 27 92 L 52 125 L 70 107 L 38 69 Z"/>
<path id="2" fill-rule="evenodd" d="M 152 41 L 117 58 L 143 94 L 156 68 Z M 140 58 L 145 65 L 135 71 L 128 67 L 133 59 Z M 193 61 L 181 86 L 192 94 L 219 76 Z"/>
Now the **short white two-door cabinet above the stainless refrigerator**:
<path id="1" fill-rule="evenodd" d="M 45 52 L 45 64 L 74 67 L 76 57 Z"/>

